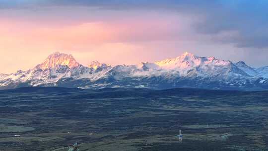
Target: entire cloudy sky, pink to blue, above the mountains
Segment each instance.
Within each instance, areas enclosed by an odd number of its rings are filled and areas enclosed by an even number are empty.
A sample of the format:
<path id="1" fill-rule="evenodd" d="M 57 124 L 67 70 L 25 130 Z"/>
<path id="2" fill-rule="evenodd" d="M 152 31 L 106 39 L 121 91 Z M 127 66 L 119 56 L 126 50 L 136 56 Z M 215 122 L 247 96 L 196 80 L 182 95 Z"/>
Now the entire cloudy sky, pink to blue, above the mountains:
<path id="1" fill-rule="evenodd" d="M 0 0 L 0 73 L 56 51 L 83 65 L 188 51 L 257 68 L 268 65 L 268 0 Z"/>

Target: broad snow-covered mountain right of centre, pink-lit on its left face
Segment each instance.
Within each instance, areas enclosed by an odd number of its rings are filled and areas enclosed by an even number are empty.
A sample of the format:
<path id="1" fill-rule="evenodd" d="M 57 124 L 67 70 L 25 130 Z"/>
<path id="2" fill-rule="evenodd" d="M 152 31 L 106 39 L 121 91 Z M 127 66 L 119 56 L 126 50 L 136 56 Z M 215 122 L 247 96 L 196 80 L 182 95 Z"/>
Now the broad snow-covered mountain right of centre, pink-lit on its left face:
<path id="1" fill-rule="evenodd" d="M 177 71 L 184 77 L 211 77 L 214 79 L 247 77 L 247 73 L 237 68 L 232 62 L 218 60 L 214 57 L 197 57 L 185 52 L 183 55 L 163 61 L 155 62 L 161 69 Z"/>

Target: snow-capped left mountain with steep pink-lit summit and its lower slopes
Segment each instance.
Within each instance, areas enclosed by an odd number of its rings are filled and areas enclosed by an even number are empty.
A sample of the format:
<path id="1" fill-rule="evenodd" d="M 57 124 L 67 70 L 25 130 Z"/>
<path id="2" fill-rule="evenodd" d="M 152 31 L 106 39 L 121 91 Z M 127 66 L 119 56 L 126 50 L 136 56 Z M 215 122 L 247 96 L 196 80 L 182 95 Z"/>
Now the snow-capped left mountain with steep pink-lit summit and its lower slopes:
<path id="1" fill-rule="evenodd" d="M 0 88 L 13 88 L 18 86 L 57 86 L 58 81 L 66 78 L 101 77 L 111 67 L 103 64 L 97 69 L 80 65 L 71 55 L 53 53 L 47 59 L 28 71 L 17 71 L 9 75 L 0 76 Z"/>

